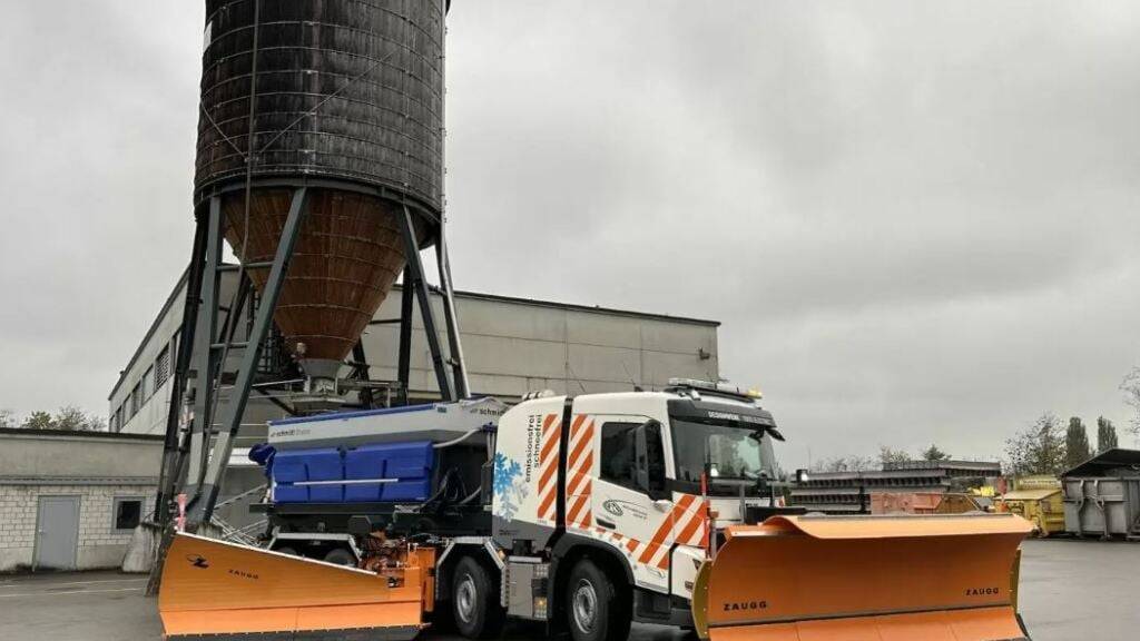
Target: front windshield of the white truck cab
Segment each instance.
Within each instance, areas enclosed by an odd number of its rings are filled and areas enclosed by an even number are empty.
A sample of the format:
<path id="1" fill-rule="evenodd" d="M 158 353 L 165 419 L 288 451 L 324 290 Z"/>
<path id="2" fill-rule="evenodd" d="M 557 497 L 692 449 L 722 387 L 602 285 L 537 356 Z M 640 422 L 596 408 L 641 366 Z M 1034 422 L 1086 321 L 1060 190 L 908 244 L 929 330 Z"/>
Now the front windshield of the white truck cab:
<path id="1" fill-rule="evenodd" d="M 673 452 L 677 460 L 677 480 L 700 482 L 706 461 L 710 480 L 759 478 L 769 474 L 772 437 L 756 425 L 698 423 L 673 419 Z M 763 438 L 760 438 L 763 435 Z"/>

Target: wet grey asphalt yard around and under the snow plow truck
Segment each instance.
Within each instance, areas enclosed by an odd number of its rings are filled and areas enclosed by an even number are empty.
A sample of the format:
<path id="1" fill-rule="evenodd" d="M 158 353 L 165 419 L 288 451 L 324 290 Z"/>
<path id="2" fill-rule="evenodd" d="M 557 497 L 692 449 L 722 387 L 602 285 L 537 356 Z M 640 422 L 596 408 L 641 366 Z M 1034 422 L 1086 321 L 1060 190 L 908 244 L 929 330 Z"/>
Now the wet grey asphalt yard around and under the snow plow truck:
<path id="1" fill-rule="evenodd" d="M 1021 615 L 1034 641 L 1140 639 L 1135 581 L 1140 543 L 1027 541 Z M 984 551 L 979 551 L 984 553 Z M 0 640 L 154 641 L 162 626 L 146 579 L 116 573 L 0 576 Z M 540 626 L 512 625 L 507 640 L 542 639 Z M 424 641 L 454 641 L 429 631 Z M 679 631 L 635 625 L 630 641 L 679 641 Z"/>

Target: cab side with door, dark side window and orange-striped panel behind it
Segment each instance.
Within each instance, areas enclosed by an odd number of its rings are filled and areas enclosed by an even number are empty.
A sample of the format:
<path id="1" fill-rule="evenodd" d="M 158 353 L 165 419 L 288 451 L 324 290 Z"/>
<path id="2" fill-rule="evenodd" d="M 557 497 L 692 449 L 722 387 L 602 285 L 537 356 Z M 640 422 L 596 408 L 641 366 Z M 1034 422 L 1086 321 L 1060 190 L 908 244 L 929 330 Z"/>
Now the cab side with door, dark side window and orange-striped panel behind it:
<path id="1" fill-rule="evenodd" d="M 669 591 L 673 502 L 657 421 L 575 415 L 567 459 L 567 529 L 613 545 L 643 587 Z"/>

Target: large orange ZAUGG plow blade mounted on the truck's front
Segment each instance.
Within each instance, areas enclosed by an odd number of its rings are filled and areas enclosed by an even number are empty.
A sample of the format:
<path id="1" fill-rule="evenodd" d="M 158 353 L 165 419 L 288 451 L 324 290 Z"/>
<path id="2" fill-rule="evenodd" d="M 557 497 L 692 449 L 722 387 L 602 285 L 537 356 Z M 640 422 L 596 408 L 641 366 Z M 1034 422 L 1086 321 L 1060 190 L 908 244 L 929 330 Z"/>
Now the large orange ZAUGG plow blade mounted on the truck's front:
<path id="1" fill-rule="evenodd" d="M 772 517 L 727 528 L 693 589 L 711 641 L 1026 640 L 1013 514 Z"/>

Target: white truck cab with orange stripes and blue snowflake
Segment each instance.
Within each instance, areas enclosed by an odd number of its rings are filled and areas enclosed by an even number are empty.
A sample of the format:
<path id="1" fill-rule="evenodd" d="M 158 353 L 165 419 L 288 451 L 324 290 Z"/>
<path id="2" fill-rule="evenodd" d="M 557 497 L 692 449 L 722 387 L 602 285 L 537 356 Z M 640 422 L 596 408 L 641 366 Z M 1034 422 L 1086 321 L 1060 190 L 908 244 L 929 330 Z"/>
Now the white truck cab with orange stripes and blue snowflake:
<path id="1" fill-rule="evenodd" d="M 603 600 L 597 577 L 565 574 L 583 559 L 628 592 L 614 605 L 635 620 L 691 625 L 709 524 L 773 511 L 782 438 L 758 398 L 711 383 L 524 400 L 499 420 L 494 539 L 551 560 L 552 595 L 565 595 L 554 608 L 576 639 L 595 639 Z"/>

